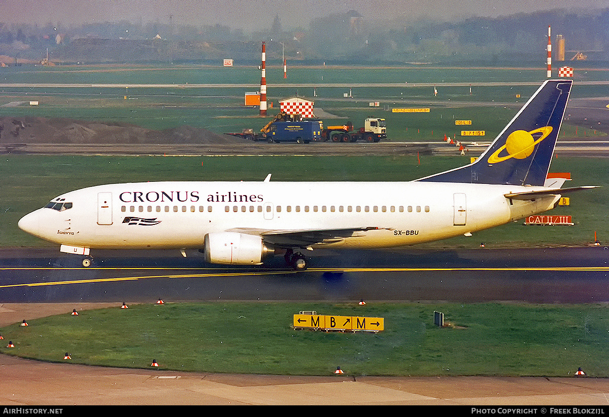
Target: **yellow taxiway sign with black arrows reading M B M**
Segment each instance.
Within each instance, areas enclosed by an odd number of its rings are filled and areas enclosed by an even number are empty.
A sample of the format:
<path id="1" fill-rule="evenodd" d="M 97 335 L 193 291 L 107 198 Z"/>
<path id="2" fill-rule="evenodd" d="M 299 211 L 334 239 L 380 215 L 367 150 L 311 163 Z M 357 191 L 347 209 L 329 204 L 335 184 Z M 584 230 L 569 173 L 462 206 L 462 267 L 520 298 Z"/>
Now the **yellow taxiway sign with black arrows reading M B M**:
<path id="1" fill-rule="evenodd" d="M 351 315 L 294 314 L 294 328 L 339 331 L 382 331 L 382 317 L 354 317 Z"/>

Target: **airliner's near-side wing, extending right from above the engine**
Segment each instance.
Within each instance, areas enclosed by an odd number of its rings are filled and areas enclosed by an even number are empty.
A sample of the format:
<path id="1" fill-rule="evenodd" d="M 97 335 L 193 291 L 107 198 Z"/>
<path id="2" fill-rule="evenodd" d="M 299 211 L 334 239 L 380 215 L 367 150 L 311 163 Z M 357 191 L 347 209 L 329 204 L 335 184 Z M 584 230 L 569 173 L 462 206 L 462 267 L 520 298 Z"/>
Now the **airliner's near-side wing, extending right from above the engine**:
<path id="1" fill-rule="evenodd" d="M 261 230 L 236 228 L 227 232 L 240 232 L 248 235 L 259 235 L 264 241 L 275 246 L 308 247 L 312 244 L 334 243 L 345 238 L 358 236 L 367 230 L 378 230 L 379 227 L 350 227 L 347 229 L 301 229 L 301 230 Z M 364 236 L 362 234 L 362 236 Z"/>

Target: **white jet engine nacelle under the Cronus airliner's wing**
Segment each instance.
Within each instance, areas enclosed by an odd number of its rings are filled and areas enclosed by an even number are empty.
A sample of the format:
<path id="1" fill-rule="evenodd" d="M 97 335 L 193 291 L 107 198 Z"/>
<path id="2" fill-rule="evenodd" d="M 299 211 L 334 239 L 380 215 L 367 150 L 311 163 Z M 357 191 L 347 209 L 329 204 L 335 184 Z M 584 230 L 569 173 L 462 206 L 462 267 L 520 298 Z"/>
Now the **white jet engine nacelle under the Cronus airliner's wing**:
<path id="1" fill-rule="evenodd" d="M 237 232 L 217 232 L 205 235 L 205 260 L 214 264 L 258 265 L 274 250 L 260 236 Z"/>

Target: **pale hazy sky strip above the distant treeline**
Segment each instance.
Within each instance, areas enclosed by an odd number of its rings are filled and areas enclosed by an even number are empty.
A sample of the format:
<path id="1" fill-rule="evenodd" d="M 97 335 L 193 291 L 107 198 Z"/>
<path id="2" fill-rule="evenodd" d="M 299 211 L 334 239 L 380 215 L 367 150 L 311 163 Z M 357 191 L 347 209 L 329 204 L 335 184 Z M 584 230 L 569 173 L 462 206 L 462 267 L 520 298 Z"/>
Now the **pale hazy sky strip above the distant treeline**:
<path id="1" fill-rule="evenodd" d="M 61 22 L 66 27 L 83 22 L 160 21 L 203 26 L 224 24 L 246 32 L 269 28 L 279 15 L 284 28 L 309 26 L 312 18 L 357 10 L 367 19 L 428 15 L 510 15 L 572 7 L 609 7 L 609 0 L 0 0 L 0 22 Z"/>

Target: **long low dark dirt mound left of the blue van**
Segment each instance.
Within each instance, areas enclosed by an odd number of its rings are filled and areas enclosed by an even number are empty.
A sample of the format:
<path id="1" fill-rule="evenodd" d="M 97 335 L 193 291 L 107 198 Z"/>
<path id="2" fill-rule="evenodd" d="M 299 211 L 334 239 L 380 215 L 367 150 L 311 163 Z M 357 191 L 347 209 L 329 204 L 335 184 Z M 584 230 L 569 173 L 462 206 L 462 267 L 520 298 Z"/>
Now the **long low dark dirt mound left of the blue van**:
<path id="1" fill-rule="evenodd" d="M 180 126 L 155 131 L 125 123 L 0 117 L 0 143 L 240 143 L 238 137 Z"/>

